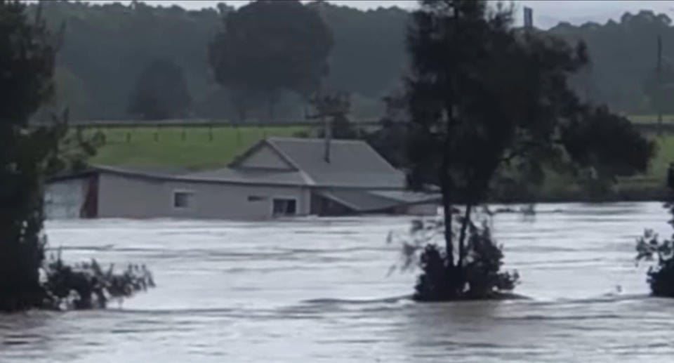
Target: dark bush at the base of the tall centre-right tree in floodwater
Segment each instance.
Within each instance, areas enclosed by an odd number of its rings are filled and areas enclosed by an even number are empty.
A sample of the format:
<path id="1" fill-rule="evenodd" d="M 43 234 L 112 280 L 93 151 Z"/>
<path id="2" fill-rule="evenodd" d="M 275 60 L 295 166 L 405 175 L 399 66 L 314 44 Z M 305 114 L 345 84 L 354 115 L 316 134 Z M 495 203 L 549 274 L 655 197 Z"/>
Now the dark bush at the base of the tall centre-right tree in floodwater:
<path id="1" fill-rule="evenodd" d="M 503 246 L 492 237 L 490 221 L 489 214 L 483 213 L 481 223 L 468 223 L 463 266 L 450 264 L 445 249 L 438 246 L 444 237 L 442 220 L 413 221 L 409 236 L 402 241 L 402 268 L 416 265 L 421 269 L 414 286 L 416 301 L 498 298 L 515 289 L 520 275 L 501 271 Z"/>

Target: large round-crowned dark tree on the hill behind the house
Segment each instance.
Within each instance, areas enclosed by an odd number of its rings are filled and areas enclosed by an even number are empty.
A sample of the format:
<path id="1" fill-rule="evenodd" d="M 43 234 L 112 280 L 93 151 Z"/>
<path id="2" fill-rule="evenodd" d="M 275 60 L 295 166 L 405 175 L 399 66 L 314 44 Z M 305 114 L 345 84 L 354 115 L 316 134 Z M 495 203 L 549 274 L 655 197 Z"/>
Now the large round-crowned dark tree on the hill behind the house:
<path id="1" fill-rule="evenodd" d="M 281 91 L 308 96 L 327 73 L 332 34 L 299 1 L 253 1 L 228 13 L 224 25 L 209 45 L 216 79 L 230 91 L 263 95 L 270 118 Z"/>

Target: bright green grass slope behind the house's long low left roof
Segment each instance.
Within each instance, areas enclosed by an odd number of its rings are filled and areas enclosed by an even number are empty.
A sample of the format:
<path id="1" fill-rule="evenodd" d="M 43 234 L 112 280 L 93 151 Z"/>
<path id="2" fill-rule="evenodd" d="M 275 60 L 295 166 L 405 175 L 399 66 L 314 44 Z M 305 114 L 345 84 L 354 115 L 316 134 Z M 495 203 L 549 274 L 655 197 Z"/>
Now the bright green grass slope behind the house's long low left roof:
<path id="1" fill-rule="evenodd" d="M 102 128 L 105 145 L 90 160 L 94 165 L 206 169 L 226 166 L 267 136 L 293 136 L 307 127 L 154 127 Z M 155 140 L 155 136 L 157 140 Z"/>

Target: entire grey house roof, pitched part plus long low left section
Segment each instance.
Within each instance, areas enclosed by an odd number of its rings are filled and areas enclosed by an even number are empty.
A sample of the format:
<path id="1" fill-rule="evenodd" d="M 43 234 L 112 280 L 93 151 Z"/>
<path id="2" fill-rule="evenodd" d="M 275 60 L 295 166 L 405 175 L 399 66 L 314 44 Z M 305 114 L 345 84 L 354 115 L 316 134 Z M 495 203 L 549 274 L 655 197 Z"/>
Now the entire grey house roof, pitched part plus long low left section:
<path id="1" fill-rule="evenodd" d="M 246 167 L 243 162 L 263 147 L 269 147 L 284 162 L 287 170 Z M 176 173 L 166 170 L 138 170 L 111 166 L 93 166 L 86 171 L 118 175 L 176 180 L 196 183 L 232 183 L 303 187 L 341 187 L 366 190 L 404 190 L 405 176 L 362 140 L 331 140 L 331 160 L 324 160 L 324 139 L 267 138 L 247 150 L 229 168 Z M 65 176 L 72 178 L 74 175 Z M 54 181 L 54 180 L 52 180 Z M 390 200 L 390 196 L 372 195 Z M 399 202 L 405 202 L 399 200 Z"/>

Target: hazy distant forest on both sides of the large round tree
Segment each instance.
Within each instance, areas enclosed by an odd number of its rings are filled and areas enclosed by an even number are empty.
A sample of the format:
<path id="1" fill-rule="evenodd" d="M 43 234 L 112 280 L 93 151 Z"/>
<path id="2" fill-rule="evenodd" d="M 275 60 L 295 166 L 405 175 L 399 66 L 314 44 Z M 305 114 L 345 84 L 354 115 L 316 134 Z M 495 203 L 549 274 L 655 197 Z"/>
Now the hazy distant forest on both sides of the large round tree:
<path id="1" fill-rule="evenodd" d="M 205 49 L 222 28 L 221 16 L 234 11 L 225 3 L 188 11 L 179 6 L 155 6 L 143 1 L 110 4 L 44 1 L 44 16 L 52 29 L 65 23 L 65 37 L 56 60 L 55 108 L 70 107 L 71 119 L 128 117 L 129 93 L 136 75 L 155 59 L 171 59 L 183 68 L 195 117 L 236 119 L 237 110 L 223 102 L 235 97 L 218 86 Z M 317 4 L 305 6 L 315 8 Z M 34 11 L 36 6 L 29 5 Z M 360 11 L 323 5 L 323 18 L 334 34 L 326 85 L 366 98 L 355 114 L 376 118 L 377 98 L 385 94 L 407 67 L 404 31 L 409 12 L 399 8 Z M 260 23 L 262 23 L 260 21 Z M 94 49 L 95 51 L 91 51 Z M 237 93 L 238 94 L 238 93 Z M 239 95 L 250 119 L 265 119 L 264 95 Z M 305 100 L 282 91 L 275 112 L 298 119 Z M 39 118 L 48 119 L 47 113 Z M 37 118 L 37 117 L 36 117 Z"/>

